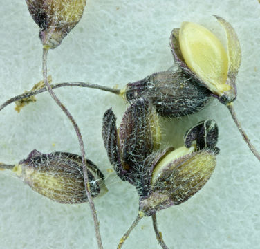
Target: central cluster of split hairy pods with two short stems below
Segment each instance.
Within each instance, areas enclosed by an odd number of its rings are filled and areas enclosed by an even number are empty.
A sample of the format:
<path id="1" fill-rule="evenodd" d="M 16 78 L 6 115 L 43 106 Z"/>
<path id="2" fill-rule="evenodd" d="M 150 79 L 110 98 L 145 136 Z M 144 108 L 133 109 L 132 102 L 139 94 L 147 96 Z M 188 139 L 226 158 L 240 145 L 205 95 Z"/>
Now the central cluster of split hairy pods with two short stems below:
<path id="1" fill-rule="evenodd" d="M 160 129 L 155 110 L 148 100 L 136 100 L 125 111 L 118 131 L 111 109 L 104 113 L 102 137 L 115 172 L 136 187 L 139 213 L 124 234 L 118 248 L 143 216 L 152 216 L 156 238 L 160 236 L 156 212 L 187 201 L 201 190 L 216 165 L 218 127 L 214 120 L 199 122 L 185 135 L 185 145 L 158 151 Z"/>

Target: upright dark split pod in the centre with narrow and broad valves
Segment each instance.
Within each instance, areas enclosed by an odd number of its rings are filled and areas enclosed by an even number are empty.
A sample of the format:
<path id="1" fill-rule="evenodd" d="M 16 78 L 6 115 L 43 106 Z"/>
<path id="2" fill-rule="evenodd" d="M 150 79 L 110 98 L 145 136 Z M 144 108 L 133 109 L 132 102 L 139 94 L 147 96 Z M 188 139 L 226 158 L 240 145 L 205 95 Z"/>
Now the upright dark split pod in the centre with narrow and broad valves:
<path id="1" fill-rule="evenodd" d="M 104 113 L 102 137 L 115 172 L 132 184 L 139 184 L 143 162 L 160 146 L 156 110 L 148 100 L 139 99 L 125 111 L 117 133 L 115 115 Z"/>

